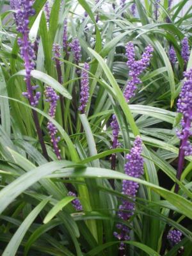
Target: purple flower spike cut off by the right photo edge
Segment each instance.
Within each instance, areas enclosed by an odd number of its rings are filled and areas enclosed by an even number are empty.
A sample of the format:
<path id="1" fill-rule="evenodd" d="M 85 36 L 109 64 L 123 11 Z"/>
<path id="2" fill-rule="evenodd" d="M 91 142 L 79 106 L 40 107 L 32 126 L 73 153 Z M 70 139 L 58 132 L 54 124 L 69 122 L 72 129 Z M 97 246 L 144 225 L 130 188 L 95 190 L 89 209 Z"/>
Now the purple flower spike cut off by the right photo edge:
<path id="1" fill-rule="evenodd" d="M 184 152 L 184 156 L 191 156 L 192 145 L 189 137 L 192 136 L 192 68 L 188 72 L 184 72 L 184 77 L 186 81 L 184 81 L 177 102 L 177 111 L 183 115 L 180 121 L 181 131 L 177 131 L 177 136 L 181 140 L 180 150 Z"/>

